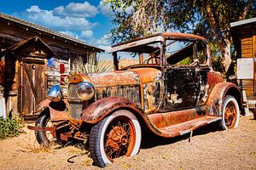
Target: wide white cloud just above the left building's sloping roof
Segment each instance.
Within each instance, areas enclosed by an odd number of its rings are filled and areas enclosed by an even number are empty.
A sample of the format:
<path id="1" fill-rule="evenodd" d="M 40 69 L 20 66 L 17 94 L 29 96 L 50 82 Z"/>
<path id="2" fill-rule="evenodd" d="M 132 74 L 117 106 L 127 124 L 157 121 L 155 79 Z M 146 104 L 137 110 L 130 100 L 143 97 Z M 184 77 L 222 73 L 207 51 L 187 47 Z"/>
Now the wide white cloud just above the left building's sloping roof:
<path id="1" fill-rule="evenodd" d="M 38 6 L 31 6 L 26 9 L 26 18 L 42 26 L 61 30 L 89 30 L 96 23 L 90 23 L 85 18 L 71 16 L 56 16 L 52 10 L 43 10 Z"/>

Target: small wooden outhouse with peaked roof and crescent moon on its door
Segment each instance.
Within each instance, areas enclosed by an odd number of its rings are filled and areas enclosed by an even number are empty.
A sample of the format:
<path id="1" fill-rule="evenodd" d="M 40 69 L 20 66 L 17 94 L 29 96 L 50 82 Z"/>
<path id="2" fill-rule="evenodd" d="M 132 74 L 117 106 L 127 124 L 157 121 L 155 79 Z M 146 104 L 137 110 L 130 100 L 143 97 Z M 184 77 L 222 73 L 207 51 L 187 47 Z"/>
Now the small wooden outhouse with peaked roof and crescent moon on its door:
<path id="1" fill-rule="evenodd" d="M 46 62 L 56 54 L 39 37 L 4 49 L 0 68 L 0 82 L 7 102 L 7 111 L 33 114 L 46 97 Z"/>

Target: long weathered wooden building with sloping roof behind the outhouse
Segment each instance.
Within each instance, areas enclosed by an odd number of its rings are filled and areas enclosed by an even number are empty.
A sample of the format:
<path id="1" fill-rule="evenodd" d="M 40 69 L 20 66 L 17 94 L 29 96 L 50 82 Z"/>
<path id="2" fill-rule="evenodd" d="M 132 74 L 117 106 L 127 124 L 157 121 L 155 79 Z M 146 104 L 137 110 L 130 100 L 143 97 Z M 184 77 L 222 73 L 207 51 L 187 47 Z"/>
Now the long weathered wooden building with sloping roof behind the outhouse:
<path id="1" fill-rule="evenodd" d="M 35 36 L 40 37 L 56 54 L 49 60 L 49 63 L 53 65 L 47 66 L 48 88 L 63 82 L 61 79 L 73 71 L 73 65 L 76 65 L 78 60 L 85 65 L 90 60 L 96 59 L 97 53 L 104 51 L 61 32 L 0 13 L 0 52 L 15 43 Z M 66 89 L 64 88 L 64 90 Z"/>

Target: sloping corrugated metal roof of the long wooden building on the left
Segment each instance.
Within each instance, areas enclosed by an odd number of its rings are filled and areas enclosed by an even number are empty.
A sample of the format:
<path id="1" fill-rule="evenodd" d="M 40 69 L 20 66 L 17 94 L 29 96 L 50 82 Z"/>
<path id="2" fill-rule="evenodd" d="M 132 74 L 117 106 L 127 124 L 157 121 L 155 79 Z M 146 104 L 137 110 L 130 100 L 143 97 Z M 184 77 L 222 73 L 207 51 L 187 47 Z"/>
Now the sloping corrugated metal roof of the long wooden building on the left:
<path id="1" fill-rule="evenodd" d="M 61 33 L 61 32 L 53 31 L 53 30 L 51 30 L 51 29 L 49 29 L 49 28 L 47 28 L 47 27 L 39 26 L 39 25 L 36 25 L 36 24 L 34 24 L 34 23 L 32 23 L 32 22 L 28 22 L 28 21 L 26 21 L 26 20 L 21 20 L 21 19 L 19 19 L 19 18 L 16 18 L 16 17 L 14 17 L 14 16 L 9 15 L 9 14 L 0 13 L 0 18 L 3 18 L 3 19 L 5 19 L 5 20 L 9 20 L 9 21 L 18 23 L 18 24 L 23 25 L 23 26 L 32 27 L 32 28 L 34 28 L 34 29 L 36 29 L 36 30 L 38 30 L 38 31 L 44 31 L 44 32 L 46 32 L 46 33 L 49 33 L 49 34 L 54 35 L 55 37 L 65 38 L 65 39 L 67 39 L 67 40 L 69 40 L 69 41 L 77 42 L 77 43 L 79 43 L 79 44 L 88 46 L 88 47 L 90 47 L 90 48 L 95 48 L 97 51 L 102 51 L 102 52 L 104 51 L 104 50 L 101 49 L 101 48 L 96 48 L 95 46 L 92 46 L 92 45 L 90 45 L 90 44 L 88 44 L 88 43 L 86 43 L 86 42 L 83 42 L 83 41 L 81 41 L 81 40 L 79 40 L 79 39 L 76 39 L 76 38 L 74 38 L 74 37 L 67 36 L 66 34 L 63 34 L 63 33 Z"/>

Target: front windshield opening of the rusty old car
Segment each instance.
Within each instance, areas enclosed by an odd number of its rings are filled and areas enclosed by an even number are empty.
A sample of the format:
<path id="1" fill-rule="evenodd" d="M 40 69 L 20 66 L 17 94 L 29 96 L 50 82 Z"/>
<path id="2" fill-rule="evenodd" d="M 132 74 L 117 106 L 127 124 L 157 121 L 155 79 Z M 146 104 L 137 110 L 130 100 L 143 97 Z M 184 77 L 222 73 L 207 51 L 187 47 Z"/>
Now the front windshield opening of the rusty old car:
<path id="1" fill-rule="evenodd" d="M 160 47 L 160 42 L 152 42 L 118 51 L 119 69 L 132 65 L 160 65 Z"/>

